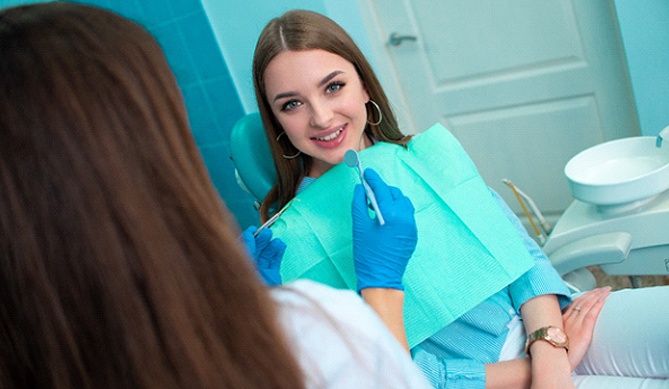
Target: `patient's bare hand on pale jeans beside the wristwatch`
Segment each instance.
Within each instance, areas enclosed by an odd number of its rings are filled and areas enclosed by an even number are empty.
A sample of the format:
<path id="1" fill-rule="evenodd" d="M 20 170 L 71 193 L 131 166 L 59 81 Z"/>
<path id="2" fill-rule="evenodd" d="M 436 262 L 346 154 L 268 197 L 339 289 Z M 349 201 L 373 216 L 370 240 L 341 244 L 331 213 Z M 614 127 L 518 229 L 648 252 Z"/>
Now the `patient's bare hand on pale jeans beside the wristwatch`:
<path id="1" fill-rule="evenodd" d="M 609 286 L 588 291 L 574 299 L 562 314 L 564 330 L 569 337 L 568 357 L 572 371 L 588 351 L 597 317 L 610 294 Z"/>

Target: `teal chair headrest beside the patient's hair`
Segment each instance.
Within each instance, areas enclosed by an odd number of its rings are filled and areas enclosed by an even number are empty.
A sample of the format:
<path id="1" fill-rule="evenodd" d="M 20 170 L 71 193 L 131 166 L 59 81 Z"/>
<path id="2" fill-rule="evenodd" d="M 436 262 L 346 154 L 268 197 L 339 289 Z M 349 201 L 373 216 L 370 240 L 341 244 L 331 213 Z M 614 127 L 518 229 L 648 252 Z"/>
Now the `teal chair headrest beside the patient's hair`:
<path id="1" fill-rule="evenodd" d="M 259 113 L 242 117 L 232 127 L 230 158 L 242 188 L 262 202 L 276 183 L 276 171 Z"/>

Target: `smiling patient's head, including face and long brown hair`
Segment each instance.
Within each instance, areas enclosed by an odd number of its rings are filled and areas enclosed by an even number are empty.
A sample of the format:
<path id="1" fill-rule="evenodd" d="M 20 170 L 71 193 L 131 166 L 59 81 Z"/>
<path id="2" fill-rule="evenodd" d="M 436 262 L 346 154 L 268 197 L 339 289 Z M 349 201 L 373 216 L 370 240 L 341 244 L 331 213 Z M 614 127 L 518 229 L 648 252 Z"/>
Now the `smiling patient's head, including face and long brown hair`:
<path id="1" fill-rule="evenodd" d="M 323 15 L 288 12 L 270 21 L 256 46 L 253 83 L 278 177 L 262 203 L 263 220 L 295 196 L 305 176 L 318 177 L 343 161 L 347 147 L 361 150 L 373 141 L 406 145 L 411 139 L 399 130 L 365 56 Z M 284 157 L 297 151 L 303 152 L 298 158 Z"/>

